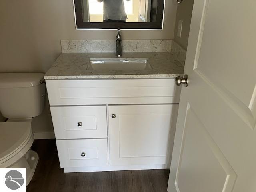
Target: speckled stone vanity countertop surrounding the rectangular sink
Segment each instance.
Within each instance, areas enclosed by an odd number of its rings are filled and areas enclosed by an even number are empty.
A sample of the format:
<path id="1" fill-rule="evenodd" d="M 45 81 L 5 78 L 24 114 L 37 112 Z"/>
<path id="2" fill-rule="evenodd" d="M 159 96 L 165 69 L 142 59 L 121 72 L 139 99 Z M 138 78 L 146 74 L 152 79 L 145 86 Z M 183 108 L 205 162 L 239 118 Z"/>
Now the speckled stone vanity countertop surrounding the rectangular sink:
<path id="1" fill-rule="evenodd" d="M 45 79 L 120 79 L 174 78 L 182 75 L 184 66 L 170 52 L 124 53 L 122 58 L 148 58 L 152 69 L 105 70 L 88 69 L 90 58 L 115 58 L 114 53 L 62 53 L 44 75 Z"/>

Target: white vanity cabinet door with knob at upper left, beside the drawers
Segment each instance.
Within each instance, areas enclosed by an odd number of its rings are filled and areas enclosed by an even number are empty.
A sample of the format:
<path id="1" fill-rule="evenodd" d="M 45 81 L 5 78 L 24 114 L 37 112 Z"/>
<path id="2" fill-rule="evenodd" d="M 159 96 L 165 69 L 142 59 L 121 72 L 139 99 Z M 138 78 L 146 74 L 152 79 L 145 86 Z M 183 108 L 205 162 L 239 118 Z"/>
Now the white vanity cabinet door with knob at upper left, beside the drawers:
<path id="1" fill-rule="evenodd" d="M 170 164 L 177 108 L 177 104 L 109 106 L 110 164 Z"/>

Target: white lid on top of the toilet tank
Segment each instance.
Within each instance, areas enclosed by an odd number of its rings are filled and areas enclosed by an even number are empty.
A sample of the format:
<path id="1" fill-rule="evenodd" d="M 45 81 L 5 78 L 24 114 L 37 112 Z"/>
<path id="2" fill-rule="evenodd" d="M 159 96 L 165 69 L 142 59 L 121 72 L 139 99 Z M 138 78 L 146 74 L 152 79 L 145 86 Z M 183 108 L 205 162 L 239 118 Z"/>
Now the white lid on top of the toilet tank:
<path id="1" fill-rule="evenodd" d="M 43 73 L 0 73 L 0 88 L 33 87 L 43 79 Z"/>

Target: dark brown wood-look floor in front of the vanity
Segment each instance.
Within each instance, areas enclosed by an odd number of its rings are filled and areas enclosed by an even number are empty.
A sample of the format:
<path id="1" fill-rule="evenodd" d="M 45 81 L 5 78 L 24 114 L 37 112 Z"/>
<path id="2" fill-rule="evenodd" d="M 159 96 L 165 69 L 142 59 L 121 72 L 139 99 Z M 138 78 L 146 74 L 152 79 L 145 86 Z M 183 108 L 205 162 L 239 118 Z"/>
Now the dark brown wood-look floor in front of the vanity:
<path id="1" fill-rule="evenodd" d="M 64 173 L 55 140 L 35 140 L 39 156 L 27 192 L 166 192 L 169 170 Z"/>

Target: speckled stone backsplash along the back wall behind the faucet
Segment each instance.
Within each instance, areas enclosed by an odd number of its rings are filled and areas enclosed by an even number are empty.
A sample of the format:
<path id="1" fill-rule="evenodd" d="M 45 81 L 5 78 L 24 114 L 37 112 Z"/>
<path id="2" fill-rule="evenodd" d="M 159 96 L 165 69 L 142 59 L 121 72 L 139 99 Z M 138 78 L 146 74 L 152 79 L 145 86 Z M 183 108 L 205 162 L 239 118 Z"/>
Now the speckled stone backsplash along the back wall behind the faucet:
<path id="1" fill-rule="evenodd" d="M 62 53 L 112 53 L 116 40 L 61 40 Z M 125 53 L 171 52 L 172 40 L 122 40 Z"/>

